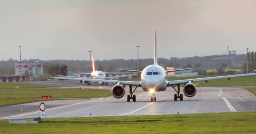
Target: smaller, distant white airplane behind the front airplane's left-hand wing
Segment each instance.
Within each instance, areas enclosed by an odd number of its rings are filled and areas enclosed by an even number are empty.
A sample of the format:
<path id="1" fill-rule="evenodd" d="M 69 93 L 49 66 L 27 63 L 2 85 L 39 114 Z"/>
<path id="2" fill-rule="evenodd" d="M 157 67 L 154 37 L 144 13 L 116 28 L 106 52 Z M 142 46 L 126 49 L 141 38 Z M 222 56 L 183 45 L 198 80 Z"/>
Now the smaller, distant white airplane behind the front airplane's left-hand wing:
<path id="1" fill-rule="evenodd" d="M 119 77 L 131 77 L 137 74 L 131 74 L 131 75 L 122 75 L 122 76 L 111 76 L 111 77 L 106 77 L 105 73 L 102 71 L 97 71 L 95 70 L 95 64 L 94 64 L 94 59 L 92 57 L 92 69 L 93 71 L 91 73 L 82 73 L 84 75 L 91 75 L 91 77 L 77 77 L 77 76 L 62 76 L 62 75 L 57 75 L 57 77 L 70 77 L 70 78 L 81 78 L 83 80 L 80 80 L 80 83 L 87 83 L 87 85 L 91 85 L 90 81 L 87 81 L 88 79 L 104 79 L 104 80 L 114 80 Z M 63 80 L 63 79 L 62 79 Z M 94 81 L 93 81 L 94 82 Z M 107 84 L 107 82 L 102 82 L 102 85 Z"/>

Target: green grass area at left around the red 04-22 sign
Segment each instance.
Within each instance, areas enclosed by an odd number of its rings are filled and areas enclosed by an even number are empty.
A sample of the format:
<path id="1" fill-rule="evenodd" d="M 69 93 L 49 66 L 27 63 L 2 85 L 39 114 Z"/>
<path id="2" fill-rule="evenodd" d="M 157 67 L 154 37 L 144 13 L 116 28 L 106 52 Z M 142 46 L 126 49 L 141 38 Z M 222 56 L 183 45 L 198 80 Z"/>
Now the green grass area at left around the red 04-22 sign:
<path id="1" fill-rule="evenodd" d="M 0 107 L 15 104 L 29 103 L 35 101 L 63 100 L 70 98 L 95 98 L 107 97 L 111 95 L 111 90 L 107 89 L 85 89 L 78 88 L 43 88 L 40 85 L 19 85 L 28 88 L 10 88 L 15 87 L 16 83 L 8 83 L 4 88 L 0 88 Z M 35 88 L 33 88 L 35 87 Z M 42 95 L 51 95 L 52 99 L 42 99 Z M 2 99 L 2 97 L 4 99 Z M 14 97 L 14 99 L 12 99 Z M 15 98 L 19 97 L 19 98 Z"/>

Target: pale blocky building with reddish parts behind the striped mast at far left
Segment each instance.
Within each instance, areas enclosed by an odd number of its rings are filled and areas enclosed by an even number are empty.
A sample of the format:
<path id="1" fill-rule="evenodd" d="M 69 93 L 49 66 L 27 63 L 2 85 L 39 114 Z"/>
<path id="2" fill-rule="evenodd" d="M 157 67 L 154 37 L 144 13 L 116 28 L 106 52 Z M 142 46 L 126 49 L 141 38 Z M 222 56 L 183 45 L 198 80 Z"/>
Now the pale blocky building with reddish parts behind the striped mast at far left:
<path id="1" fill-rule="evenodd" d="M 21 70 L 19 63 L 15 63 L 15 75 L 43 75 L 43 64 L 37 63 L 21 63 Z"/>

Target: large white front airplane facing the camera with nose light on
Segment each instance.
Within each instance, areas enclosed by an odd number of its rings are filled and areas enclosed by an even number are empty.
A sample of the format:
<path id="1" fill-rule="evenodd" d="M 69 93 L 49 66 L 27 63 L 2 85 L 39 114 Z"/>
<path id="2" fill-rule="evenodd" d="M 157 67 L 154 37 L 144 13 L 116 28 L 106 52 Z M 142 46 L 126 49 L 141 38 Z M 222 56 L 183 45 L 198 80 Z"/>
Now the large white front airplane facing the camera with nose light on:
<path id="1" fill-rule="evenodd" d="M 181 69 L 181 70 L 189 70 Z M 192 82 L 197 81 L 205 81 L 215 80 L 227 78 L 230 80 L 232 77 L 243 77 L 243 76 L 251 76 L 256 75 L 256 73 L 251 74 L 240 74 L 240 75 L 227 75 L 227 76 L 217 76 L 217 77 L 205 77 L 205 78 L 195 78 L 195 79 L 187 79 L 187 80 L 167 80 L 168 72 L 175 72 L 180 70 L 168 70 L 166 71 L 162 66 L 157 63 L 157 36 L 155 31 L 155 40 L 154 40 L 154 64 L 145 67 L 142 71 L 138 70 L 124 70 L 129 72 L 140 72 L 141 73 L 141 81 L 120 81 L 120 80 L 101 80 L 101 79 L 87 79 L 87 81 L 96 81 L 96 82 L 108 82 L 115 83 L 112 87 L 112 95 L 114 98 L 122 98 L 125 95 L 125 85 L 129 85 L 129 95 L 127 95 L 127 101 L 129 102 L 131 99 L 133 102 L 136 101 L 136 95 L 133 95 L 134 91 L 141 87 L 145 92 L 149 92 L 151 94 L 151 101 L 156 101 L 155 92 L 165 91 L 167 87 L 172 87 L 176 93 L 174 94 L 174 101 L 177 101 L 179 98 L 180 101 L 183 101 L 183 94 L 180 93 L 180 86 L 184 84 L 183 93 L 187 97 L 193 97 L 197 93 L 197 87 Z M 84 78 L 62 78 L 62 77 L 53 77 L 54 79 L 63 79 L 63 80 L 84 80 Z"/>

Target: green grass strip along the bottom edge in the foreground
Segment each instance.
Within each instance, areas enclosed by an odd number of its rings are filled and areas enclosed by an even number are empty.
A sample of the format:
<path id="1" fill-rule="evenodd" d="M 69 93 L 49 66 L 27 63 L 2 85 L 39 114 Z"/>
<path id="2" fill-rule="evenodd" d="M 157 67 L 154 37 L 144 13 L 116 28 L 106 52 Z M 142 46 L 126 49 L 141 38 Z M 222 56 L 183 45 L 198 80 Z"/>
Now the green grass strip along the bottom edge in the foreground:
<path id="1" fill-rule="evenodd" d="M 47 113 L 46 113 L 47 114 Z M 256 112 L 44 119 L 8 124 L 2 134 L 255 134 Z"/>

